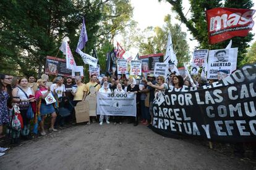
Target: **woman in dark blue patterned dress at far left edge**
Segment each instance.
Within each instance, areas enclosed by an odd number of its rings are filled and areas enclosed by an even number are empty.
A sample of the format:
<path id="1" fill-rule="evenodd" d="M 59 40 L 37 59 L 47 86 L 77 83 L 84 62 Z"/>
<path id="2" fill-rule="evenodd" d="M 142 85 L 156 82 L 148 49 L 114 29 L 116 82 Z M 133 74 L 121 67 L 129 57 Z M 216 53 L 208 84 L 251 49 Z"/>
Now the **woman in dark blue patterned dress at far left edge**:
<path id="1" fill-rule="evenodd" d="M 3 124 L 9 123 L 8 107 L 11 105 L 12 99 L 12 76 L 0 75 L 0 139 L 4 137 L 2 134 Z"/>

